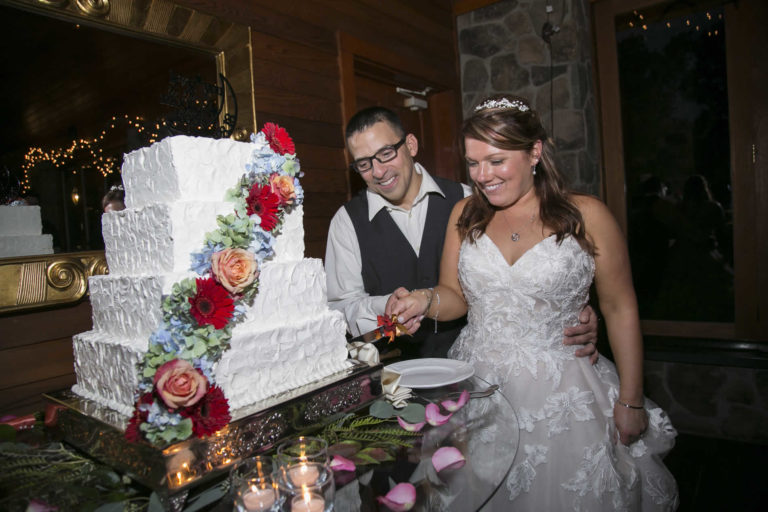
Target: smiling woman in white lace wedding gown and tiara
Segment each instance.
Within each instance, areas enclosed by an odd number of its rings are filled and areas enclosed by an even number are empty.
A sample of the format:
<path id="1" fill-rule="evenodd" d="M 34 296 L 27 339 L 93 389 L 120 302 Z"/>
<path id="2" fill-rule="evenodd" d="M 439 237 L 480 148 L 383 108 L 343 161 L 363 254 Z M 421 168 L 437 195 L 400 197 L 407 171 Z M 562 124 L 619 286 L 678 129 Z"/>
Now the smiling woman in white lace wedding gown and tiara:
<path id="1" fill-rule="evenodd" d="M 468 325 L 449 357 L 498 382 L 520 444 L 493 510 L 674 510 L 661 458 L 675 429 L 643 396 L 643 347 L 626 243 L 611 213 L 570 193 L 527 101 L 493 96 L 462 127 L 473 194 L 454 208 L 440 283 L 398 289 L 387 314 Z M 595 281 L 615 366 L 561 343 Z M 498 446 L 503 450 L 503 446 Z M 488 464 L 493 464 L 492 460 Z"/>

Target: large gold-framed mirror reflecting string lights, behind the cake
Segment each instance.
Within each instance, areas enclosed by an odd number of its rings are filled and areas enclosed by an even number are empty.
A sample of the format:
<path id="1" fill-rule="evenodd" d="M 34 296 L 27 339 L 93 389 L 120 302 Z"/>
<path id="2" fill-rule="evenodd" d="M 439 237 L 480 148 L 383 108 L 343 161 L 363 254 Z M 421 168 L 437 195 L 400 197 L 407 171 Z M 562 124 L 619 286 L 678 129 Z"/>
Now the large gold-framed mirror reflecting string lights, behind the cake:
<path id="1" fill-rule="evenodd" d="M 0 38 L 14 48 L 0 203 L 24 205 L 0 219 L 3 312 L 79 300 L 106 271 L 102 199 L 124 153 L 174 134 L 243 140 L 256 123 L 247 26 L 168 0 L 0 0 Z"/>

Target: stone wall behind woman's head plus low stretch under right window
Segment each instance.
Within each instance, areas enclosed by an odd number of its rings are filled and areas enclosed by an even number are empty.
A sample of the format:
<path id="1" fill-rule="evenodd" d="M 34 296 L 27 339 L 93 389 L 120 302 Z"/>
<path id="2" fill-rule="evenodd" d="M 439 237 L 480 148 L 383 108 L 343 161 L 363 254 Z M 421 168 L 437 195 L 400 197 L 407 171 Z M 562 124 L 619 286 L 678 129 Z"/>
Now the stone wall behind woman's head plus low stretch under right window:
<path id="1" fill-rule="evenodd" d="M 560 27 L 551 38 L 551 68 L 541 36 L 548 3 L 563 10 L 549 17 Z M 588 0 L 500 0 L 459 16 L 457 30 L 464 114 L 489 94 L 528 98 L 554 135 L 571 186 L 600 195 L 589 19 Z M 645 362 L 645 392 L 679 431 L 768 444 L 765 366 L 689 363 L 684 350 L 662 357 L 669 360 Z"/>

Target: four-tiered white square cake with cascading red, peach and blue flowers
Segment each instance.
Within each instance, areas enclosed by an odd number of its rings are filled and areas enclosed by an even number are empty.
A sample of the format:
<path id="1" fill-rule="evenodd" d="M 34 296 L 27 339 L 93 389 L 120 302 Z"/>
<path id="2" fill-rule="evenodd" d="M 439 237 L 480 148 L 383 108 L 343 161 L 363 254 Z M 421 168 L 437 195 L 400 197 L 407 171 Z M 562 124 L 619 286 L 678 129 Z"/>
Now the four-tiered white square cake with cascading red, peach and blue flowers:
<path id="1" fill-rule="evenodd" d="M 126 436 L 210 435 L 237 410 L 347 368 L 345 324 L 304 258 L 294 144 L 169 137 L 125 157 L 127 208 L 102 219 L 73 391 L 131 416 Z"/>

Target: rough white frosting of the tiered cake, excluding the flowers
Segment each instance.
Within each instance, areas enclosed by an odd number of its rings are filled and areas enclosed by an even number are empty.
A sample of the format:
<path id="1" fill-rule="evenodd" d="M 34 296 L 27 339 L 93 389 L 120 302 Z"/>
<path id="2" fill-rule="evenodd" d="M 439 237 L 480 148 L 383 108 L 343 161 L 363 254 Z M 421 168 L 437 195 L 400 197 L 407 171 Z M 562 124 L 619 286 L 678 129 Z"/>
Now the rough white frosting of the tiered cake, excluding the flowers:
<path id="1" fill-rule="evenodd" d="M 90 279 L 93 330 L 74 336 L 75 393 L 129 415 L 138 364 L 162 321 L 162 296 L 190 272 L 222 201 L 245 173 L 251 144 L 170 137 L 126 155 L 127 209 L 103 215 L 110 275 Z M 327 306 L 325 271 L 304 258 L 304 211 L 287 215 L 259 293 L 213 369 L 230 410 L 348 367 L 346 324 Z"/>

